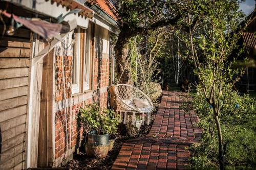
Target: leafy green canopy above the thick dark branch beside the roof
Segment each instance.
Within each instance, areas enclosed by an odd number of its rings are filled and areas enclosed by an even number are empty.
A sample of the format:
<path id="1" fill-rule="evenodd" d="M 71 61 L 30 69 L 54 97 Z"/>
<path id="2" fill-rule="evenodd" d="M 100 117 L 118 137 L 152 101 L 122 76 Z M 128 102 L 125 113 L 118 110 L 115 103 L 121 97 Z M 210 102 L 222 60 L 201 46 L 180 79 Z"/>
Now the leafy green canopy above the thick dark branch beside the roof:
<path id="1" fill-rule="evenodd" d="M 181 3 L 177 1 L 138 1 L 138 0 L 121 0 L 115 3 L 119 7 L 119 13 L 125 25 L 133 28 L 141 27 L 145 24 L 150 27 L 158 20 L 164 20 L 175 16 L 179 13 Z"/>

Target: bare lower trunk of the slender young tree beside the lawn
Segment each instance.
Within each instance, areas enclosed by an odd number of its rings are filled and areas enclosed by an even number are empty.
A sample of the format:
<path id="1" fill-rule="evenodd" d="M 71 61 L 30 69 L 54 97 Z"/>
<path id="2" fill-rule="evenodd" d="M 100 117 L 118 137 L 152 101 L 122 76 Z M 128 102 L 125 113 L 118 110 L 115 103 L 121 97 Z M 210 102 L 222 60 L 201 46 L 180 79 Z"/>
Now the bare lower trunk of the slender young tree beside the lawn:
<path id="1" fill-rule="evenodd" d="M 220 119 L 217 113 L 214 113 L 215 122 L 217 126 L 217 132 L 218 132 L 218 140 L 219 140 L 219 164 L 220 164 L 220 170 L 224 169 L 224 152 L 223 152 L 223 138 L 221 133 L 221 125 L 220 125 Z"/>

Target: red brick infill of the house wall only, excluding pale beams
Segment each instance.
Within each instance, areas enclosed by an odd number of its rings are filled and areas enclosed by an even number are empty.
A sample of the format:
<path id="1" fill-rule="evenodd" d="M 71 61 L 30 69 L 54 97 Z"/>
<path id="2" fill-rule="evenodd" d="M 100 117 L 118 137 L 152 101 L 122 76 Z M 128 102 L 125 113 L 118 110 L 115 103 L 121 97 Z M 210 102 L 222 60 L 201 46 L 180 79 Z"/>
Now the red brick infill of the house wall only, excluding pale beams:
<path id="1" fill-rule="evenodd" d="M 64 62 L 63 62 L 64 59 Z M 64 63 L 64 65 L 63 65 Z M 63 77 L 63 70 L 65 70 L 65 75 Z M 56 57 L 56 66 L 55 66 L 55 102 L 60 102 L 64 98 L 64 90 L 66 90 L 66 99 L 71 97 L 72 93 L 72 56 L 64 57 L 57 56 Z M 109 59 L 102 59 L 102 66 L 100 69 L 100 88 L 106 87 L 109 85 Z M 94 60 L 94 82 L 93 89 L 97 89 L 98 85 L 98 59 Z M 65 83 L 65 86 L 64 86 Z M 77 104 L 72 105 L 72 110 L 70 107 L 65 110 L 57 111 L 55 113 L 55 159 L 60 158 L 66 152 L 66 145 L 69 145 L 69 148 L 79 147 L 79 142 L 82 140 L 83 127 L 77 122 L 78 112 L 80 107 L 84 107 L 84 105 L 91 103 L 92 97 L 90 96 L 83 102 L 79 102 Z M 108 92 L 102 92 L 100 94 L 100 106 L 106 107 L 108 102 Z M 67 113 L 67 127 L 68 127 L 68 141 L 66 141 L 66 113 Z M 71 121 L 71 128 L 70 128 Z M 70 134 L 71 132 L 71 134 Z M 71 135 L 71 139 L 70 139 Z"/>

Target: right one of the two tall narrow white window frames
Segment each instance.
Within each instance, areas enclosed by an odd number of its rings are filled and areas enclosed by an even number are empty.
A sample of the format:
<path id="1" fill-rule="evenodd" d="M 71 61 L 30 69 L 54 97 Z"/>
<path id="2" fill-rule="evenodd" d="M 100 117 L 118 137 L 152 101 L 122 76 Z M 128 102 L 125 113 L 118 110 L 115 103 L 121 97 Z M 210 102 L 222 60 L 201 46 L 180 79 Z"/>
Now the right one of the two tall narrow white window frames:
<path id="1" fill-rule="evenodd" d="M 91 39 L 91 27 L 86 30 L 86 38 L 84 38 L 84 45 L 86 52 L 84 53 L 84 65 L 83 65 L 83 91 L 90 89 L 90 77 L 91 77 L 91 53 L 90 53 L 90 39 Z"/>

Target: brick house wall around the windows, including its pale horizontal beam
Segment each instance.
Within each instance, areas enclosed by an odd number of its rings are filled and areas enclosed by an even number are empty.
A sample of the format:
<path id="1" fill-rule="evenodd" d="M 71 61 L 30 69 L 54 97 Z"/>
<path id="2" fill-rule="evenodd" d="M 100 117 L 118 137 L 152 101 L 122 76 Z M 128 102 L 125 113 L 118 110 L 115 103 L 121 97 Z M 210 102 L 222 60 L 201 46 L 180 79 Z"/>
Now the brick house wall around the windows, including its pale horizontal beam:
<path id="1" fill-rule="evenodd" d="M 71 41 L 69 35 L 65 42 Z M 65 46 L 68 46 L 68 45 Z M 72 46 L 72 45 L 71 45 Z M 72 96 L 72 49 L 68 49 L 67 56 L 61 50 L 62 46 L 55 48 L 55 163 L 59 166 L 69 155 L 80 147 L 83 140 L 83 127 L 79 122 L 78 112 L 80 107 L 92 102 L 93 91 L 87 93 L 78 93 Z M 108 102 L 108 92 L 106 87 L 109 85 L 109 54 L 100 54 L 102 62 L 98 68 L 98 57 L 94 57 L 94 72 L 92 73 L 92 89 L 97 91 L 98 79 L 100 78 L 100 106 L 106 107 Z M 100 76 L 98 76 L 98 69 Z M 63 72 L 64 71 L 64 72 Z M 65 95 L 66 94 L 66 95 Z M 67 120 L 66 120 L 67 118 Z M 67 126 L 66 126 L 67 123 Z M 67 131 L 66 131 L 66 127 Z M 66 137 L 68 136 L 68 137 Z M 66 148 L 68 146 L 68 149 Z M 66 153 L 66 154 L 65 154 Z M 65 158 L 64 158 L 65 156 Z"/>

